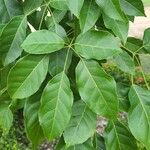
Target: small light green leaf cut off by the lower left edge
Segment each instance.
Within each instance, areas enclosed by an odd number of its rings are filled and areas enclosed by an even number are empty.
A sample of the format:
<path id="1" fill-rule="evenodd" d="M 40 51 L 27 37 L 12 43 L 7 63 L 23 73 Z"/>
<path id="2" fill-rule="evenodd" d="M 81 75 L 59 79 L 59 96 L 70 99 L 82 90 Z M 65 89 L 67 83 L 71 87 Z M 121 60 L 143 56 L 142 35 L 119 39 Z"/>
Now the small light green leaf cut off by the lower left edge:
<path id="1" fill-rule="evenodd" d="M 8 134 L 13 122 L 13 114 L 8 107 L 8 104 L 0 103 L 0 128 L 4 134 Z"/>

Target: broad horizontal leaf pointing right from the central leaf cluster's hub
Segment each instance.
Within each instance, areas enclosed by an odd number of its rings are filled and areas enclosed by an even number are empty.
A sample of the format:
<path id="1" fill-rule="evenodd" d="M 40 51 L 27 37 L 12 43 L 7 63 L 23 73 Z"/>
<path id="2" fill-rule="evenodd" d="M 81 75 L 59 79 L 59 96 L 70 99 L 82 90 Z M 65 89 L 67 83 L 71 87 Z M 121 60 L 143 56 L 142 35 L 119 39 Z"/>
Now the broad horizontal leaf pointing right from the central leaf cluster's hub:
<path id="1" fill-rule="evenodd" d="M 105 31 L 88 31 L 79 35 L 75 41 L 75 50 L 86 59 L 98 60 L 121 52 L 119 41 Z"/>

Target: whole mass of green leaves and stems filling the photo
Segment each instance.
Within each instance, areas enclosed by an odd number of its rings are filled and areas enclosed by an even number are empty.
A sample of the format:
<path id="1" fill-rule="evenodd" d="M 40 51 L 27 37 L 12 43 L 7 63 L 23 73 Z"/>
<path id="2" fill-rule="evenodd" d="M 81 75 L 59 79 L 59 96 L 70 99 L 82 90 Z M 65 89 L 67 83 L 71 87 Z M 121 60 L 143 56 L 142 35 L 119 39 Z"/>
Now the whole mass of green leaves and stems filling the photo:
<path id="1" fill-rule="evenodd" d="M 23 108 L 33 149 L 60 138 L 58 150 L 150 150 L 142 57 L 150 53 L 150 29 L 143 41 L 128 37 L 135 16 L 145 16 L 141 0 L 0 0 L 3 134 Z M 109 61 L 127 82 L 106 70 Z M 135 81 L 138 67 L 145 87 Z M 103 136 L 96 133 L 98 115 L 108 120 Z"/>

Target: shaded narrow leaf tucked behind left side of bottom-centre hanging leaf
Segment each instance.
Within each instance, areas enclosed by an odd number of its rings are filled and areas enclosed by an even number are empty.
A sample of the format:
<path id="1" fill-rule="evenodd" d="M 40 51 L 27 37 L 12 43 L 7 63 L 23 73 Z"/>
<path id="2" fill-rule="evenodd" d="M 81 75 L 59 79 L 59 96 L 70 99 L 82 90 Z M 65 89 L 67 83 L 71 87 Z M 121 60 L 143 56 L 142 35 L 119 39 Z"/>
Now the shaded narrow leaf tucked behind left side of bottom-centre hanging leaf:
<path id="1" fill-rule="evenodd" d="M 40 92 L 36 93 L 26 100 L 24 106 L 25 128 L 28 139 L 32 142 L 33 148 L 36 148 L 44 139 L 44 134 L 38 119 L 40 97 Z"/>

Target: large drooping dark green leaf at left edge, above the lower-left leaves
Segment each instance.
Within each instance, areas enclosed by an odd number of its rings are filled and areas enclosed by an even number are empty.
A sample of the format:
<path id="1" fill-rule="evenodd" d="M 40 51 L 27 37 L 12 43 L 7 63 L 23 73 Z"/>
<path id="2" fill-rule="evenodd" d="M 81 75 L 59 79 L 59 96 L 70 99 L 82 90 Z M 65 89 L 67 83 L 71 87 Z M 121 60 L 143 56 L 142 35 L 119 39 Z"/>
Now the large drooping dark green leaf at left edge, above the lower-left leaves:
<path id="1" fill-rule="evenodd" d="M 4 56 L 3 64 L 16 60 L 22 53 L 21 44 L 26 38 L 27 19 L 24 16 L 14 17 L 3 29 L 0 36 L 0 53 Z"/>

